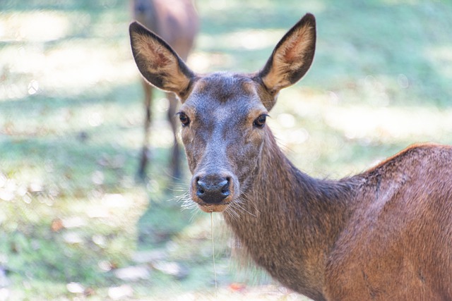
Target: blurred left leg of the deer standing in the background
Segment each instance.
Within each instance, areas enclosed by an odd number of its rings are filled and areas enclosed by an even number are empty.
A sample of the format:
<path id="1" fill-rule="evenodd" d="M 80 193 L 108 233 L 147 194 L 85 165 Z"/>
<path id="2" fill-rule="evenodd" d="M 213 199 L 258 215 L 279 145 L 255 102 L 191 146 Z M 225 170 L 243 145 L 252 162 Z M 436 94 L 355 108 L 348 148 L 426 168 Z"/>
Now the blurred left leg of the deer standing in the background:
<path id="1" fill-rule="evenodd" d="M 145 121 L 144 121 L 144 140 L 143 148 L 141 149 L 140 166 L 138 166 L 138 176 L 144 179 L 146 176 L 146 166 L 149 161 L 149 138 L 150 138 L 150 123 L 152 120 L 152 98 L 153 98 L 153 87 L 150 86 L 144 80 L 143 90 L 144 90 L 144 104 L 145 104 Z"/>

